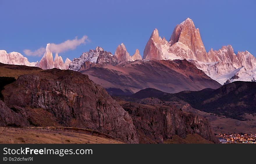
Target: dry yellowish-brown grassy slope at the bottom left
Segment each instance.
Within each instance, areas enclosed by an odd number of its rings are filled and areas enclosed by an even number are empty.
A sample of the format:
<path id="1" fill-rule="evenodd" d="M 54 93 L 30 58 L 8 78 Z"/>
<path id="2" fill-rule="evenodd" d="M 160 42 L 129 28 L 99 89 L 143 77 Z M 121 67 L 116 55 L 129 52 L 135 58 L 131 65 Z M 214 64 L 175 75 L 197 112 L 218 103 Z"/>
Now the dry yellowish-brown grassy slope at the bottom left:
<path id="1" fill-rule="evenodd" d="M 122 143 L 110 138 L 68 131 L 39 131 L 0 127 L 0 143 Z"/>

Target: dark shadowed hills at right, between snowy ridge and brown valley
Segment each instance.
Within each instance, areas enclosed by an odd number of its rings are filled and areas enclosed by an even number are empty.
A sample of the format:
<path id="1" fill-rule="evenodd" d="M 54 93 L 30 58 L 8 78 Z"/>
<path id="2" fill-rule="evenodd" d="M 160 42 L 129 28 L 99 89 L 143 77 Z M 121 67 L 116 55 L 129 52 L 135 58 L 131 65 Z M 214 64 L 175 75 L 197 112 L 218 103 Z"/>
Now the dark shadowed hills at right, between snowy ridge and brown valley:
<path id="1" fill-rule="evenodd" d="M 132 98 L 158 98 L 163 101 L 183 100 L 193 108 L 216 113 L 229 118 L 243 120 L 244 113 L 256 113 L 256 83 L 232 82 L 219 89 L 203 89 L 201 91 L 182 91 L 179 93 L 164 93 L 156 89 L 144 89 Z"/>

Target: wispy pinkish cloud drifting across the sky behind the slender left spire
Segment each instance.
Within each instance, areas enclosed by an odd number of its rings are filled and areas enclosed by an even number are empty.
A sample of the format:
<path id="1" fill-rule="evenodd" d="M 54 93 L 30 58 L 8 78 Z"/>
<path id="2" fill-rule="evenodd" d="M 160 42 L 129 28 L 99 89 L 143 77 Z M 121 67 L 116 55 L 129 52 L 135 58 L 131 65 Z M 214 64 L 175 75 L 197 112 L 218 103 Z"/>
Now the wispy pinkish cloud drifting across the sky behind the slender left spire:
<path id="1" fill-rule="evenodd" d="M 66 40 L 60 44 L 50 43 L 47 44 L 46 48 L 41 47 L 35 51 L 26 49 L 23 52 L 28 56 L 42 56 L 45 51 L 51 51 L 52 53 L 62 53 L 68 50 L 74 50 L 77 48 L 77 46 L 85 44 L 86 42 L 90 42 L 90 40 L 86 35 L 84 35 L 81 39 L 77 39 L 77 37 L 75 37 L 73 40 Z"/>

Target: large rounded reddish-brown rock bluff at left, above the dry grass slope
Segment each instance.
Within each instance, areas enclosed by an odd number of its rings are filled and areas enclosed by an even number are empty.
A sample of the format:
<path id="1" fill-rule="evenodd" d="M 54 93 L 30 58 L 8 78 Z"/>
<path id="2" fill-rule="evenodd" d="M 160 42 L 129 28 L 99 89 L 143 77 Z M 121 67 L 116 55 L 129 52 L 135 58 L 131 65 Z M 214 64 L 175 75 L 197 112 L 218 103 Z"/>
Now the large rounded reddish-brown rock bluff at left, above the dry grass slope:
<path id="1" fill-rule="evenodd" d="M 9 108 L 25 112 L 43 109 L 52 113 L 62 126 L 93 129 L 126 143 L 138 143 L 128 112 L 105 89 L 79 72 L 51 69 L 21 75 L 6 85 L 2 93 Z"/>

